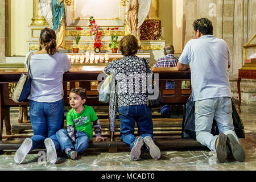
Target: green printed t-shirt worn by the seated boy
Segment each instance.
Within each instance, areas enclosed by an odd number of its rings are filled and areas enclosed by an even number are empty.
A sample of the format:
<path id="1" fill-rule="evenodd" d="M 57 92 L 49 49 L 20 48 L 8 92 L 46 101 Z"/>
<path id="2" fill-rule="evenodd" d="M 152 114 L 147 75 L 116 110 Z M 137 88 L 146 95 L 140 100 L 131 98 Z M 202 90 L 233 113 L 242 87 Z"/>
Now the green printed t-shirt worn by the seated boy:
<path id="1" fill-rule="evenodd" d="M 67 113 L 67 126 L 75 125 L 75 130 L 84 131 L 89 138 L 93 137 L 92 121 L 98 119 L 95 111 L 91 106 L 84 105 L 84 110 L 77 114 L 75 109 L 71 109 Z"/>

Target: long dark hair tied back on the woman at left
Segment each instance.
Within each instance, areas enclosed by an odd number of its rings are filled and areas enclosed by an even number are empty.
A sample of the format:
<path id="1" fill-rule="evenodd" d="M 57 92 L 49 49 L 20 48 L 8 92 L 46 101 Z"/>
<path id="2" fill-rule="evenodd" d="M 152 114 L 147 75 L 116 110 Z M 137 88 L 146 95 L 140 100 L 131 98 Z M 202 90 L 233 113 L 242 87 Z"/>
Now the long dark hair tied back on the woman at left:
<path id="1" fill-rule="evenodd" d="M 56 34 L 55 31 L 51 28 L 44 28 L 41 31 L 40 39 L 43 41 L 44 46 L 46 47 L 46 51 L 49 55 L 53 55 L 55 52 L 59 52 L 56 48 Z M 39 47 L 40 51 L 42 47 Z"/>

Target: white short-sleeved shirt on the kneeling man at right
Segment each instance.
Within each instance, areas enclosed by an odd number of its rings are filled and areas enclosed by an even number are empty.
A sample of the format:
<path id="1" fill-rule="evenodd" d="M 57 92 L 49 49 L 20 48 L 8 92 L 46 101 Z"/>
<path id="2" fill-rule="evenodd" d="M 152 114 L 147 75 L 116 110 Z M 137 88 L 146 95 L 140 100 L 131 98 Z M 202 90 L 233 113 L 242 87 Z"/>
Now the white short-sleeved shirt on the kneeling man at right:
<path id="1" fill-rule="evenodd" d="M 192 39 L 184 47 L 180 63 L 189 64 L 193 101 L 231 97 L 228 77 L 228 44 L 213 35 Z"/>

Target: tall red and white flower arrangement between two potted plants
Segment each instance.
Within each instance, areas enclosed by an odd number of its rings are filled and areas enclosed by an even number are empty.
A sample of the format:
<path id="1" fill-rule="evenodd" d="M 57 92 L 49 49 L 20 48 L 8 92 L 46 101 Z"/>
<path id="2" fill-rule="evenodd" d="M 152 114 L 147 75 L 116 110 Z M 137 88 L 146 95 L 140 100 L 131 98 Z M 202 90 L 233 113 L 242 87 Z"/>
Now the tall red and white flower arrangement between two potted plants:
<path id="1" fill-rule="evenodd" d="M 102 46 L 101 44 L 101 32 L 99 31 L 99 27 L 97 23 L 95 22 L 95 19 L 93 16 L 89 17 L 89 27 L 90 27 L 90 34 L 94 36 L 94 48 L 100 48 Z"/>

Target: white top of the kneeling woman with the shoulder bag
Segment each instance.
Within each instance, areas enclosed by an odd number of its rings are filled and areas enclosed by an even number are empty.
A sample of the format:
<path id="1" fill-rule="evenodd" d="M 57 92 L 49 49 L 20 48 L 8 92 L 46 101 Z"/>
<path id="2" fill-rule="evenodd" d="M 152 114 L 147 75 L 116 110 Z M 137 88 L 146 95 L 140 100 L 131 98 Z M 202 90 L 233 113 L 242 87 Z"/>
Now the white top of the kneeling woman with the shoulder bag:
<path id="1" fill-rule="evenodd" d="M 26 55 L 25 63 L 27 60 Z M 26 65 L 27 68 L 27 65 Z M 56 102 L 63 98 L 63 74 L 71 68 L 65 53 L 32 54 L 30 60 L 31 92 L 29 100 Z"/>

